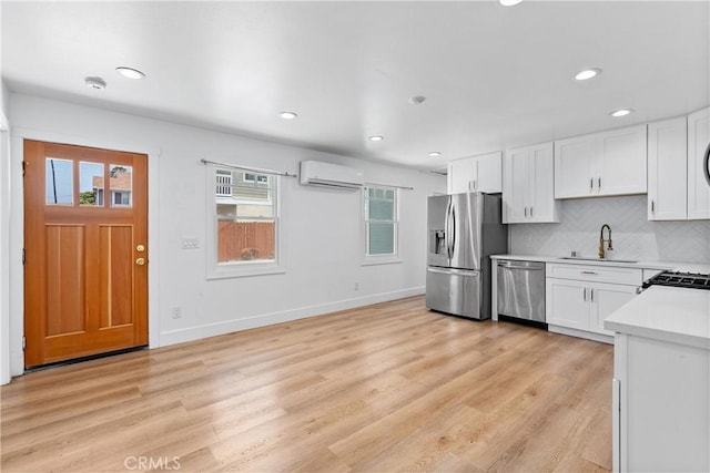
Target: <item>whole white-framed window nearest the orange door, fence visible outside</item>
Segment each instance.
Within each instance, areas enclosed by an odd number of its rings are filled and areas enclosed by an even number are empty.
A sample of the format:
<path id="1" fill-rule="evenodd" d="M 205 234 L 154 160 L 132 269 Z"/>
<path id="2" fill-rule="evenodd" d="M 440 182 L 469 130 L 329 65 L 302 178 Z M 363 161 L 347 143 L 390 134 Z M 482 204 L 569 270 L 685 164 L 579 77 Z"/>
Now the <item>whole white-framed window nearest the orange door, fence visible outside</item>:
<path id="1" fill-rule="evenodd" d="M 278 177 L 209 166 L 209 276 L 280 273 Z"/>

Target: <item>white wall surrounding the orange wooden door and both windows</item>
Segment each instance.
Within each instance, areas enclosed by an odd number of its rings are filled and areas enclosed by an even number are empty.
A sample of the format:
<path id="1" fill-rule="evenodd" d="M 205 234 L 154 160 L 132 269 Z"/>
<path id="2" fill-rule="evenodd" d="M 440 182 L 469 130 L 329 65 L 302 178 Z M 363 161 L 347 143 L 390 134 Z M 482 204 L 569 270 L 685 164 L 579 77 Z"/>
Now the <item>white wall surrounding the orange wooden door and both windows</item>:
<path id="1" fill-rule="evenodd" d="M 440 176 L 20 94 L 10 97 L 10 119 L 13 181 L 21 179 L 17 144 L 22 137 L 151 153 L 152 347 L 424 292 L 426 197 L 445 191 Z M 297 179 L 282 178 L 286 273 L 206 280 L 203 157 L 292 173 L 302 160 L 329 161 L 364 168 L 371 182 L 415 187 L 400 193 L 403 263 L 362 265 L 358 192 L 303 187 Z M 21 191 L 12 197 L 11 250 L 17 250 L 22 241 Z M 181 249 L 183 237 L 199 238 L 201 248 Z M 19 374 L 22 300 L 16 278 L 21 279 L 22 267 L 12 265 L 11 277 L 12 294 L 18 294 L 11 300 L 11 368 Z M 171 317 L 173 307 L 182 308 L 182 318 Z"/>

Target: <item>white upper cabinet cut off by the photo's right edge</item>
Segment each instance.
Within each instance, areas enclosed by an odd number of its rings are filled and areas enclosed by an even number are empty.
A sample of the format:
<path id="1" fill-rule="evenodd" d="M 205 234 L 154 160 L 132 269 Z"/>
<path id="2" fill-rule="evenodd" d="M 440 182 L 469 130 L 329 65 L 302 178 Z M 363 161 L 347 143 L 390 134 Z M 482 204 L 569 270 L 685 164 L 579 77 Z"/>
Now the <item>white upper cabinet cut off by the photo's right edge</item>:
<path id="1" fill-rule="evenodd" d="M 710 219 L 710 184 L 704 153 L 710 143 L 710 109 L 688 115 L 688 219 Z"/>

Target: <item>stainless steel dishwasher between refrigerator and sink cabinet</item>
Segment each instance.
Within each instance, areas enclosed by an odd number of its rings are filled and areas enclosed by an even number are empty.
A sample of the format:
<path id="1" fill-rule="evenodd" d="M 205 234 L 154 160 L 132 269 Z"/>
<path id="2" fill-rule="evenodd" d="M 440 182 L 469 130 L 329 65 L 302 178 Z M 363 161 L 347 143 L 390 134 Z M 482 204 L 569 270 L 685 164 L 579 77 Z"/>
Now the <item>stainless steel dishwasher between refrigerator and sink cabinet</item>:
<path id="1" fill-rule="evenodd" d="M 545 322 L 545 263 L 498 260 L 498 315 Z"/>

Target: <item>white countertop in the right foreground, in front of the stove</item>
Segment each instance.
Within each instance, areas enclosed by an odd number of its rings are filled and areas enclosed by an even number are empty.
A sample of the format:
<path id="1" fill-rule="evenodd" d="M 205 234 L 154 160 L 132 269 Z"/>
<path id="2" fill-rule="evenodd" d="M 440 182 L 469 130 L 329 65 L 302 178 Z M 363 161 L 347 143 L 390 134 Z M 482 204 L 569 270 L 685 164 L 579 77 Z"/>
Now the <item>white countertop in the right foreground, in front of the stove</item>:
<path id="1" fill-rule="evenodd" d="M 651 286 L 607 317 L 604 328 L 710 349 L 710 290 Z"/>

